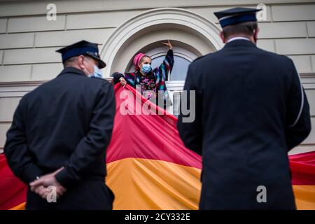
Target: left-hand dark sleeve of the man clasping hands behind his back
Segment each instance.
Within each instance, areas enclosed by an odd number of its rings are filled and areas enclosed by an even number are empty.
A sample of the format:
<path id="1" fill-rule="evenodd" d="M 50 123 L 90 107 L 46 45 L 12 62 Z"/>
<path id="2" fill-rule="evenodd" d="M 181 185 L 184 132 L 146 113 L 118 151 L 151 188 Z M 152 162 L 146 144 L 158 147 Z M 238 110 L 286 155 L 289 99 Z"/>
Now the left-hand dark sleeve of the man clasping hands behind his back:
<path id="1" fill-rule="evenodd" d="M 21 99 L 13 115 L 13 123 L 6 134 L 4 154 L 13 174 L 24 183 L 29 184 L 36 179 L 36 176 L 41 176 L 43 172 L 36 165 L 27 147 L 24 100 Z"/>

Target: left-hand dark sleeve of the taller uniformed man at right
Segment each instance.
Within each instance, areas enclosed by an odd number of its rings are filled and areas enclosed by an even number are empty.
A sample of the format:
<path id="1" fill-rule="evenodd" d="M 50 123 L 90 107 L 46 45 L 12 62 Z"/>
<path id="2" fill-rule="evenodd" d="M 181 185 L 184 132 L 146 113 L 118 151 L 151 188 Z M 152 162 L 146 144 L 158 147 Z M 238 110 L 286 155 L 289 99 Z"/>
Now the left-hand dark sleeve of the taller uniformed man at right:
<path id="1" fill-rule="evenodd" d="M 195 102 L 195 118 L 193 121 L 185 120 L 189 116 L 191 116 L 191 108 L 190 114 L 184 114 L 183 110 L 180 110 L 179 121 L 177 123 L 177 128 L 179 130 L 179 135 L 183 144 L 186 148 L 190 148 L 195 153 L 202 154 L 202 121 L 201 121 L 201 114 L 202 114 L 202 105 L 200 97 L 197 95 L 197 87 L 195 86 L 194 79 L 193 79 L 193 69 L 190 65 L 188 68 L 187 78 L 184 85 L 183 90 L 187 91 L 187 95 L 183 94 L 181 98 L 181 105 L 183 104 L 183 100 L 187 100 L 187 106 L 184 108 L 188 108 L 190 105 L 190 101 Z M 191 91 L 195 92 L 195 97 L 189 97 Z M 193 94 L 193 92 L 192 92 Z M 187 96 L 187 97 L 186 97 Z M 194 105 L 194 104 L 192 104 Z"/>

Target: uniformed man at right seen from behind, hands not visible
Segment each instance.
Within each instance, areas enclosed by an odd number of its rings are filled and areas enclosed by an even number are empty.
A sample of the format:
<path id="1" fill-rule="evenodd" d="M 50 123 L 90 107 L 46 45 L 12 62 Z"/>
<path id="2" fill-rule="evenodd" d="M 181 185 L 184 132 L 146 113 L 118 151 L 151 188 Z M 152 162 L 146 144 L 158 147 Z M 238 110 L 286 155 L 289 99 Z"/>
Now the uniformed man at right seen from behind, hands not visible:
<path id="1" fill-rule="evenodd" d="M 188 69 L 195 120 L 178 128 L 202 155 L 200 209 L 295 209 L 288 151 L 311 130 L 309 104 L 292 60 L 256 47 L 256 11 L 215 13 L 226 44 Z"/>

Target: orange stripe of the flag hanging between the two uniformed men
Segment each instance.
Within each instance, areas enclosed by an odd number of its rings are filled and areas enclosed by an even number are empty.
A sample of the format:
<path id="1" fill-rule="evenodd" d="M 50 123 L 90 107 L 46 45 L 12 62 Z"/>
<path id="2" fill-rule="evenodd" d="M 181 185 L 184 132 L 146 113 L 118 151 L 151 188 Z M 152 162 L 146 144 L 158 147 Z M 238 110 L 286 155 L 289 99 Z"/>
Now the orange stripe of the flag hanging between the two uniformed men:
<path id="1" fill-rule="evenodd" d="M 200 169 L 161 160 L 127 158 L 107 165 L 113 209 L 198 209 Z"/>

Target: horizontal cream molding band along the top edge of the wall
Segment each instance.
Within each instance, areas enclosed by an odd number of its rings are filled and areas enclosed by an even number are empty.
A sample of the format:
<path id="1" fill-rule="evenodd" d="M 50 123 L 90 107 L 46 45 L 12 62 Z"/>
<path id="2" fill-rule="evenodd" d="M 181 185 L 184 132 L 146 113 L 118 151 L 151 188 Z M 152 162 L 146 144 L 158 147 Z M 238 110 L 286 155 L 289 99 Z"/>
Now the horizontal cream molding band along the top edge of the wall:
<path id="1" fill-rule="evenodd" d="M 59 15 L 69 13 L 99 13 L 109 11 L 122 11 L 122 10 L 148 10 L 160 7 L 179 7 L 179 8 L 199 8 L 199 7 L 233 7 L 233 6 L 256 6 L 261 3 L 260 0 L 172 0 L 172 1 L 134 1 L 130 3 L 129 0 L 90 0 L 82 1 L 80 3 L 73 3 L 73 0 L 41 0 L 41 1 L 3 1 L 0 3 L 0 17 L 13 17 L 13 16 L 27 16 L 27 15 L 45 15 L 47 13 L 46 6 L 48 3 L 55 3 L 57 6 L 57 13 Z M 291 4 L 305 4 L 314 3 L 312 0 L 265 0 L 266 5 L 291 5 Z M 17 6 L 21 6 L 17 10 Z"/>

